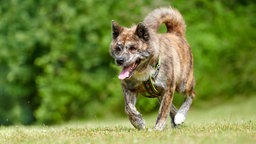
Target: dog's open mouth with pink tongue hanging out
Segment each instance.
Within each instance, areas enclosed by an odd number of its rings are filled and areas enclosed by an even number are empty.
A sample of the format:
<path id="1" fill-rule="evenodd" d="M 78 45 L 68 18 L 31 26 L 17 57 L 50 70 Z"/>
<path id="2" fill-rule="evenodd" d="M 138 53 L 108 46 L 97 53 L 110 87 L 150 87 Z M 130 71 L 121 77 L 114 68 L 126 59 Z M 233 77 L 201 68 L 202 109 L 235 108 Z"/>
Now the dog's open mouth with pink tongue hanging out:
<path id="1" fill-rule="evenodd" d="M 141 61 L 140 59 L 136 60 L 135 63 L 132 63 L 132 64 L 130 64 L 128 66 L 123 67 L 123 70 L 119 74 L 118 78 L 120 80 L 124 80 L 126 78 L 130 78 L 132 76 L 133 72 L 136 70 L 136 68 L 140 64 L 140 61 Z"/>

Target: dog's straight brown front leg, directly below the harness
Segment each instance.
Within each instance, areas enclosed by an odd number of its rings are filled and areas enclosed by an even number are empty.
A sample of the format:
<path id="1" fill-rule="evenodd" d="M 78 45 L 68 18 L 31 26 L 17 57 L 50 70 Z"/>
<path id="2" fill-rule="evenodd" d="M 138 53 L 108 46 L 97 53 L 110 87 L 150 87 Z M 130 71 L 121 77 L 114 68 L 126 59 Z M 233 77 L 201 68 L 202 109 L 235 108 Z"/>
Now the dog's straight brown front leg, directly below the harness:
<path id="1" fill-rule="evenodd" d="M 161 105 L 160 105 L 158 117 L 156 120 L 155 130 L 163 130 L 165 127 L 166 120 L 167 120 L 168 114 L 170 113 L 170 109 L 172 105 L 174 90 L 175 88 L 173 87 L 168 91 L 166 91 L 161 100 Z"/>

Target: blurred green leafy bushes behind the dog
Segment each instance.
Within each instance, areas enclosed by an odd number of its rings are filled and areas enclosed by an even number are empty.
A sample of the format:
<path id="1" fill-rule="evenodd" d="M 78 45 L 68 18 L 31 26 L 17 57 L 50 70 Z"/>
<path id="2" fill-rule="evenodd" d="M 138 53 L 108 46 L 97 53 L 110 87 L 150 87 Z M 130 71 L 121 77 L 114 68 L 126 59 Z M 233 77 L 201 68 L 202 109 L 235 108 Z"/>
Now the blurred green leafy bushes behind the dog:
<path id="1" fill-rule="evenodd" d="M 186 20 L 194 54 L 193 108 L 255 96 L 253 0 L 0 0 L 0 125 L 124 115 L 111 20 L 128 27 L 170 5 Z M 137 106 L 147 114 L 158 102 L 141 97 Z"/>

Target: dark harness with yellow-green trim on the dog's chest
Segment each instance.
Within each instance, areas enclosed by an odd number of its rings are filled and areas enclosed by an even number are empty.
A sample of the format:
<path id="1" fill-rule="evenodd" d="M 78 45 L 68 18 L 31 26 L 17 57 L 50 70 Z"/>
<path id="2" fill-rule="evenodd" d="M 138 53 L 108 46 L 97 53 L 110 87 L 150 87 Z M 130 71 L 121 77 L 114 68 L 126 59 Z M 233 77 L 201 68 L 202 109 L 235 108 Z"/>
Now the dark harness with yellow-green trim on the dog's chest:
<path id="1" fill-rule="evenodd" d="M 161 96 L 161 92 L 159 92 L 155 87 L 155 80 L 159 73 L 159 69 L 160 69 L 160 57 L 158 58 L 158 62 L 155 65 L 155 70 L 156 70 L 155 73 L 153 75 L 151 75 L 147 81 L 143 82 L 144 88 L 146 89 L 147 93 L 149 94 L 146 97 L 156 98 L 156 97 Z"/>

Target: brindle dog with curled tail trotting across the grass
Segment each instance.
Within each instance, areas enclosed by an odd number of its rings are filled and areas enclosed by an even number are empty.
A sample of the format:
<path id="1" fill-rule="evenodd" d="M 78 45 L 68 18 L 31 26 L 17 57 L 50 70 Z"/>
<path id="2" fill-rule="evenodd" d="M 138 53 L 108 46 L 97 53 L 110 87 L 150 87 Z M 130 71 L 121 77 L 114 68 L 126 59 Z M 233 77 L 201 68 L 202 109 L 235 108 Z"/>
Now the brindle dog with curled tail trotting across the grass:
<path id="1" fill-rule="evenodd" d="M 165 24 L 166 33 L 158 33 Z M 192 50 L 185 38 L 186 25 L 180 12 L 172 7 L 158 8 L 143 22 L 130 28 L 112 21 L 110 55 L 122 68 L 121 81 L 125 112 L 131 124 L 145 129 L 145 121 L 135 107 L 137 96 L 159 99 L 155 130 L 163 130 L 168 115 L 172 126 L 181 125 L 195 97 Z M 185 96 L 179 110 L 172 104 L 174 93 Z"/>

